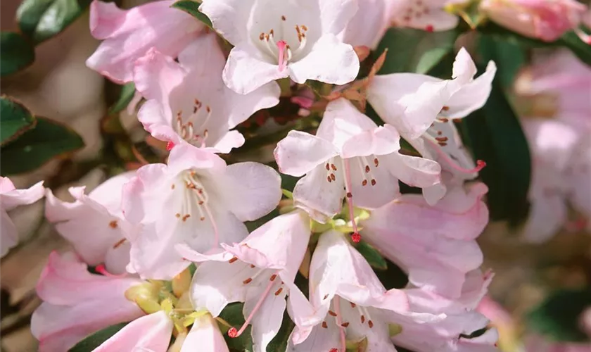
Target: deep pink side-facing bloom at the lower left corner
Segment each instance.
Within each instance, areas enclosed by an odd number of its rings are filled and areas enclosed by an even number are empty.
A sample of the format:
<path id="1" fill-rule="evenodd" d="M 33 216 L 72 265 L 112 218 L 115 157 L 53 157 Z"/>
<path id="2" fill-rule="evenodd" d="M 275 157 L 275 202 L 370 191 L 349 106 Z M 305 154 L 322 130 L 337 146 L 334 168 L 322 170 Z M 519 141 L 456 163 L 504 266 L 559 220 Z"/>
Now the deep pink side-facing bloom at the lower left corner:
<path id="1" fill-rule="evenodd" d="M 37 282 L 44 302 L 31 319 L 39 351 L 68 351 L 89 334 L 144 315 L 125 298 L 125 291 L 138 284 L 139 279 L 91 274 L 74 256 L 51 253 Z"/>

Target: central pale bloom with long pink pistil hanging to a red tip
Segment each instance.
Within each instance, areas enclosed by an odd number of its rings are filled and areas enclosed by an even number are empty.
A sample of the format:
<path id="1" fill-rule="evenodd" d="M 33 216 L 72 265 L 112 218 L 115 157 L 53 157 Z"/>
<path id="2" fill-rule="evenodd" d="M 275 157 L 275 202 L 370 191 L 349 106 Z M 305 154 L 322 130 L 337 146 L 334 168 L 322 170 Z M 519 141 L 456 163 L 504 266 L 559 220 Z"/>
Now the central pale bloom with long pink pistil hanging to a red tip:
<path id="1" fill-rule="evenodd" d="M 398 196 L 398 180 L 415 187 L 439 181 L 438 163 L 398 153 L 400 135 L 378 127 L 350 101 L 331 101 L 315 136 L 291 131 L 277 144 L 279 170 L 301 176 L 295 205 L 325 222 L 341 212 L 343 198 L 361 208 L 379 208 Z M 352 209 L 352 206 L 350 206 Z"/>

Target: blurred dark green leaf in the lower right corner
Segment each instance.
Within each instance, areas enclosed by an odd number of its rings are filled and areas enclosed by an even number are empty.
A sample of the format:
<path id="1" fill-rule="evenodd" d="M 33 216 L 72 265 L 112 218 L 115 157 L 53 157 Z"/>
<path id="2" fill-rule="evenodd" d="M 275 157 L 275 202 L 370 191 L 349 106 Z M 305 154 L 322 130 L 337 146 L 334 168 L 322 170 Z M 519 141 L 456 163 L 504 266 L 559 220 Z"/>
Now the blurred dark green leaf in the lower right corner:
<path id="1" fill-rule="evenodd" d="M 526 316 L 528 327 L 556 341 L 589 341 L 579 325 L 580 314 L 591 306 L 591 289 L 557 291 Z"/>

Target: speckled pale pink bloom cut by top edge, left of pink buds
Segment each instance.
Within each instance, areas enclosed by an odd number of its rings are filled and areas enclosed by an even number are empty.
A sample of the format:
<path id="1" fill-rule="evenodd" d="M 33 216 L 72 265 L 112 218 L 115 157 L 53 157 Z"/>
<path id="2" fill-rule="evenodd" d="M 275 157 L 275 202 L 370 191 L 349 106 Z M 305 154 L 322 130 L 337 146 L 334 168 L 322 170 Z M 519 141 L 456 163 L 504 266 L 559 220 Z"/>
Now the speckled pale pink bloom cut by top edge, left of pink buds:
<path id="1" fill-rule="evenodd" d="M 388 0 L 390 20 L 394 27 L 408 27 L 427 32 L 451 30 L 457 26 L 457 15 L 443 8 L 447 0 Z"/>

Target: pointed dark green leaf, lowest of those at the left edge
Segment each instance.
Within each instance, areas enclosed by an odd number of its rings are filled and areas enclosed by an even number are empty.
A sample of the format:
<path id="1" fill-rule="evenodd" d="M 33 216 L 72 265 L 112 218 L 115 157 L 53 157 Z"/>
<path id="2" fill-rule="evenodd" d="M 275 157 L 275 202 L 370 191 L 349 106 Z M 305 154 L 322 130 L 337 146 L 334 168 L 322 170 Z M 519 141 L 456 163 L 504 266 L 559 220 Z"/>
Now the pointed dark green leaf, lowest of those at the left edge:
<path id="1" fill-rule="evenodd" d="M 49 118 L 37 117 L 37 126 L 0 147 L 0 175 L 34 170 L 83 146 L 82 137 L 69 127 Z"/>

